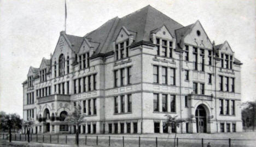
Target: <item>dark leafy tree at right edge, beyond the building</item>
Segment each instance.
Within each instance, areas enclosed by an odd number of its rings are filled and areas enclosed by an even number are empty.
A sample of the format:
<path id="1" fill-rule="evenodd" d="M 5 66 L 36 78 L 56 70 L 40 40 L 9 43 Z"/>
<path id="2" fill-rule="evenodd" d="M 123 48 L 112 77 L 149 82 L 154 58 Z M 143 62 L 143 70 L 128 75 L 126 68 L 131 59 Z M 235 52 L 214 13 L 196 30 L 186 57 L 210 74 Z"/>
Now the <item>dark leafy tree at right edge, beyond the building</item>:
<path id="1" fill-rule="evenodd" d="M 252 127 L 254 131 L 255 119 L 256 119 L 256 101 L 254 102 L 245 102 L 242 105 L 246 105 L 246 108 L 242 110 L 242 121 L 243 126 L 246 128 Z"/>

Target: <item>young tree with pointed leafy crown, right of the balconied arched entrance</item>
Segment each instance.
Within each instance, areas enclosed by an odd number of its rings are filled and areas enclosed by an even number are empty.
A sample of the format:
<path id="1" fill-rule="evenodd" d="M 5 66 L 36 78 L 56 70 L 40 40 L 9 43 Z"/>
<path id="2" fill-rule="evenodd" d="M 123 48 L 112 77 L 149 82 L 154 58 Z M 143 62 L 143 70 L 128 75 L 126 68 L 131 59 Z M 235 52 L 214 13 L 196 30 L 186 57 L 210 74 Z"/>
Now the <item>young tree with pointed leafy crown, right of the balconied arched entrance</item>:
<path id="1" fill-rule="evenodd" d="M 75 131 L 75 141 L 76 144 L 79 146 L 79 132 L 78 127 L 83 124 L 85 120 L 85 116 L 82 113 L 82 106 L 80 102 L 78 102 L 77 106 L 74 107 L 74 111 L 71 114 L 68 114 L 65 121 L 69 122 L 69 125 L 75 125 L 76 131 Z"/>

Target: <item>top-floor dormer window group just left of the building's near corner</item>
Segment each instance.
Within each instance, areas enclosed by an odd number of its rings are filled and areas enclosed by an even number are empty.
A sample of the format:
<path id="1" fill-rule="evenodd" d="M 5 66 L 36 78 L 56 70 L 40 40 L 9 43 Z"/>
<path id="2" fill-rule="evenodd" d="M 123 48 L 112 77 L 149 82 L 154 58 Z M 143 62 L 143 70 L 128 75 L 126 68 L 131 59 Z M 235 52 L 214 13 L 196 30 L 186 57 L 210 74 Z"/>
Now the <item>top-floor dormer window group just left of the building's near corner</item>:
<path id="1" fill-rule="evenodd" d="M 124 42 L 115 45 L 115 60 L 129 57 L 129 49 L 127 46 L 129 46 L 129 40 L 125 40 Z"/>

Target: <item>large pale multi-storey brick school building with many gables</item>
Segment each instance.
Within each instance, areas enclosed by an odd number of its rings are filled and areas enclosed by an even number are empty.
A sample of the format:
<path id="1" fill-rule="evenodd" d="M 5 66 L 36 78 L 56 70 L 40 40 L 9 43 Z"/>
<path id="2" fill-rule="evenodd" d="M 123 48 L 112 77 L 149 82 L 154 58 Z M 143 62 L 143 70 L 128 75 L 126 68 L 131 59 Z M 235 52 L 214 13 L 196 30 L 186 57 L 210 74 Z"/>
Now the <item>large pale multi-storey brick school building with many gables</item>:
<path id="1" fill-rule="evenodd" d="M 24 119 L 33 133 L 74 133 L 63 120 L 80 102 L 80 133 L 167 133 L 166 114 L 187 120 L 171 132 L 239 132 L 241 65 L 199 21 L 182 26 L 148 5 L 84 37 L 62 31 L 28 71 Z"/>

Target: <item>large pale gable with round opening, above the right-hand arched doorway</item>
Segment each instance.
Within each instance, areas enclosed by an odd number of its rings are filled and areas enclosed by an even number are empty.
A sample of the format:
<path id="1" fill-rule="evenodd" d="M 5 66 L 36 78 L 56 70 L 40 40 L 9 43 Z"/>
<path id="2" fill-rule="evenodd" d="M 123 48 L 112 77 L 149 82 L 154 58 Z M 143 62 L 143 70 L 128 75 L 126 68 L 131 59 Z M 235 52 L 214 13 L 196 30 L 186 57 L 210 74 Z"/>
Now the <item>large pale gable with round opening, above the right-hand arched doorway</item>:
<path id="1" fill-rule="evenodd" d="M 196 21 L 191 29 L 185 34 L 184 43 L 199 46 L 201 48 L 212 49 L 211 40 L 208 38 L 199 21 Z"/>

